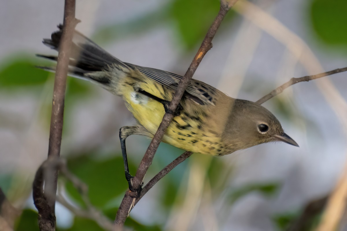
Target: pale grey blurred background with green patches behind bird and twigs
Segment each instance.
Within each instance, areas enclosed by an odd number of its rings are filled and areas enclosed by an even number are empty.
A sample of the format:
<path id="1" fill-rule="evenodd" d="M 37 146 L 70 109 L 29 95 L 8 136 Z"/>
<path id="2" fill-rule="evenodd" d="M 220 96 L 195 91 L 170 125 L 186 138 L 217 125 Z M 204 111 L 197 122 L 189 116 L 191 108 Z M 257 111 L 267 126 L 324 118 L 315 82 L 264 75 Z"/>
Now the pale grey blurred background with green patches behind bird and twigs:
<path id="1" fill-rule="evenodd" d="M 229 12 L 193 78 L 256 101 L 292 77 L 347 66 L 346 1 L 252 2 Z M 184 75 L 218 8 L 217 0 L 77 0 L 76 29 L 122 61 Z M 24 210 L 17 230 L 37 222 L 31 184 L 48 150 L 54 79 L 34 68 L 50 64 L 35 54 L 56 54 L 41 41 L 62 23 L 63 10 L 62 0 L 0 3 L 0 187 Z M 193 154 L 141 199 L 128 227 L 285 230 L 305 204 L 330 192 L 344 165 L 346 75 L 298 83 L 263 105 L 300 148 L 271 143 L 221 158 Z M 127 188 L 118 131 L 135 120 L 119 97 L 68 82 L 61 156 L 113 220 Z M 127 139 L 132 174 L 148 144 Z M 182 152 L 161 144 L 145 183 Z M 66 190 L 78 206 L 76 190 Z M 56 210 L 59 230 L 102 230 L 59 203 Z"/>

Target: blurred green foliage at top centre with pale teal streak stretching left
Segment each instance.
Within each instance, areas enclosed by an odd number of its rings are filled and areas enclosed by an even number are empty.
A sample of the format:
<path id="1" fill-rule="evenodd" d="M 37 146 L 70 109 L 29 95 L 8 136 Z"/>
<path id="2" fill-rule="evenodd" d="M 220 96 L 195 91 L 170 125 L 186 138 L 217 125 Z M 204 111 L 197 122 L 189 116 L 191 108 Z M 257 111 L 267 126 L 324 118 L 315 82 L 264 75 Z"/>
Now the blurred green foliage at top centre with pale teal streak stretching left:
<path id="1" fill-rule="evenodd" d="M 172 0 L 155 11 L 144 16 L 135 17 L 126 23 L 114 23 L 97 30 L 93 38 L 96 41 L 107 43 L 115 39 L 139 33 L 148 33 L 148 30 L 164 23 L 174 23 L 174 29 L 179 38 L 180 45 L 185 50 L 192 50 L 200 45 L 207 30 L 217 16 L 220 6 L 218 0 Z M 230 11 L 223 24 L 234 16 Z"/>

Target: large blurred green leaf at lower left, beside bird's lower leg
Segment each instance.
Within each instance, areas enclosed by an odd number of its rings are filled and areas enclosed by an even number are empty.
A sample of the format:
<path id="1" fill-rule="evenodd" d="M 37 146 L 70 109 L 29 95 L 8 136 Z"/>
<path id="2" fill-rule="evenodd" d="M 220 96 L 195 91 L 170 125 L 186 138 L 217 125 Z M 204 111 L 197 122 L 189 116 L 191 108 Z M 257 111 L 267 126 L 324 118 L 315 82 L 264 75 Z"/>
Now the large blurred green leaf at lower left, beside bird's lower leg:
<path id="1" fill-rule="evenodd" d="M 129 163 L 129 168 L 133 170 L 135 166 Z M 104 160 L 92 159 L 90 155 L 69 159 L 68 169 L 88 185 L 91 203 L 100 208 L 124 194 L 128 187 L 121 155 Z M 67 183 L 67 191 L 76 201 L 83 204 L 80 193 L 70 182 Z"/>

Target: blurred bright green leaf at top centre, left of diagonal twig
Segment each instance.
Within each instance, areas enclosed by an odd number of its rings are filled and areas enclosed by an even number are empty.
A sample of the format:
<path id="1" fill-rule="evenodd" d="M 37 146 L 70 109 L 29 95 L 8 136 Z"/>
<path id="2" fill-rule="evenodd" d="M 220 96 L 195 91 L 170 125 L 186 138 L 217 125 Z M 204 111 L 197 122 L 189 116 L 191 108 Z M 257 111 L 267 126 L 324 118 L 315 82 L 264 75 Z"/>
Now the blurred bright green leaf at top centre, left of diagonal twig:
<path id="1" fill-rule="evenodd" d="M 201 43 L 217 16 L 218 0 L 175 0 L 169 9 L 170 16 L 176 21 L 177 29 L 187 48 Z"/>

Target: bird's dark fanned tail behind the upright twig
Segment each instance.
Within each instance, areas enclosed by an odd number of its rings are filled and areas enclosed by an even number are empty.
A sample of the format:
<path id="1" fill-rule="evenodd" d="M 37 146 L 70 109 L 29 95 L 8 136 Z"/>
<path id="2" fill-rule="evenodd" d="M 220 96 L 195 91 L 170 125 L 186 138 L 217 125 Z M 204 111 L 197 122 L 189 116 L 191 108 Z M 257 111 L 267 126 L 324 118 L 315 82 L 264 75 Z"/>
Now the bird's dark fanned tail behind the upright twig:
<path id="1" fill-rule="evenodd" d="M 43 44 L 59 51 L 62 35 L 62 25 L 53 32 L 51 38 L 43 39 Z M 39 57 L 57 61 L 57 56 L 37 54 Z M 41 69 L 55 71 L 55 67 L 38 66 Z M 90 80 L 117 94 L 119 79 L 124 78 L 131 68 L 103 48 L 95 44 L 83 34 L 75 31 L 70 50 L 68 74 L 81 79 Z M 118 72 L 118 73 L 117 73 Z M 116 85 L 116 86 L 110 86 Z"/>

